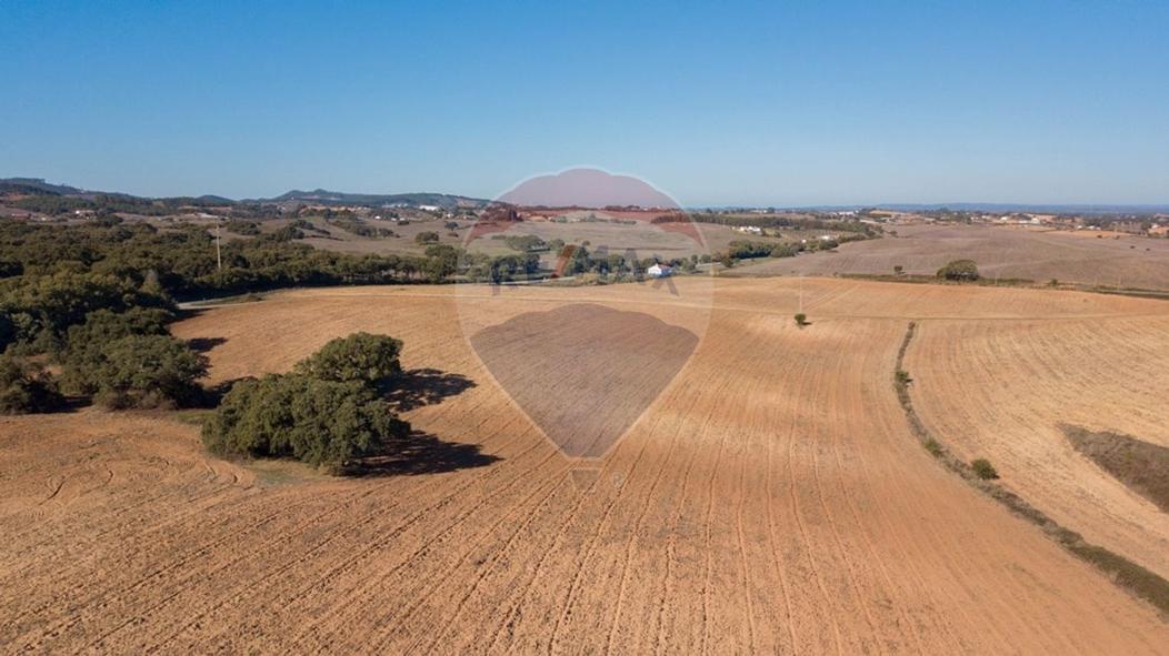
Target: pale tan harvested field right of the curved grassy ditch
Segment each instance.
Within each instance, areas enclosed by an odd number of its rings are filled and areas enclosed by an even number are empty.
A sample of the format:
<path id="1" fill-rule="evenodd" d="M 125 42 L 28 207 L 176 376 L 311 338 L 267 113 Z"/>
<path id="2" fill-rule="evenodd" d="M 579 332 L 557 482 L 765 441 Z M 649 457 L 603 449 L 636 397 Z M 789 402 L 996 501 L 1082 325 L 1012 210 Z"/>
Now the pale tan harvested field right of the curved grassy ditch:
<path id="1" fill-rule="evenodd" d="M 1094 544 L 1169 578 L 1169 519 L 1067 440 L 1063 424 L 1169 446 L 1169 316 L 920 326 L 906 357 L 926 426 Z"/>

